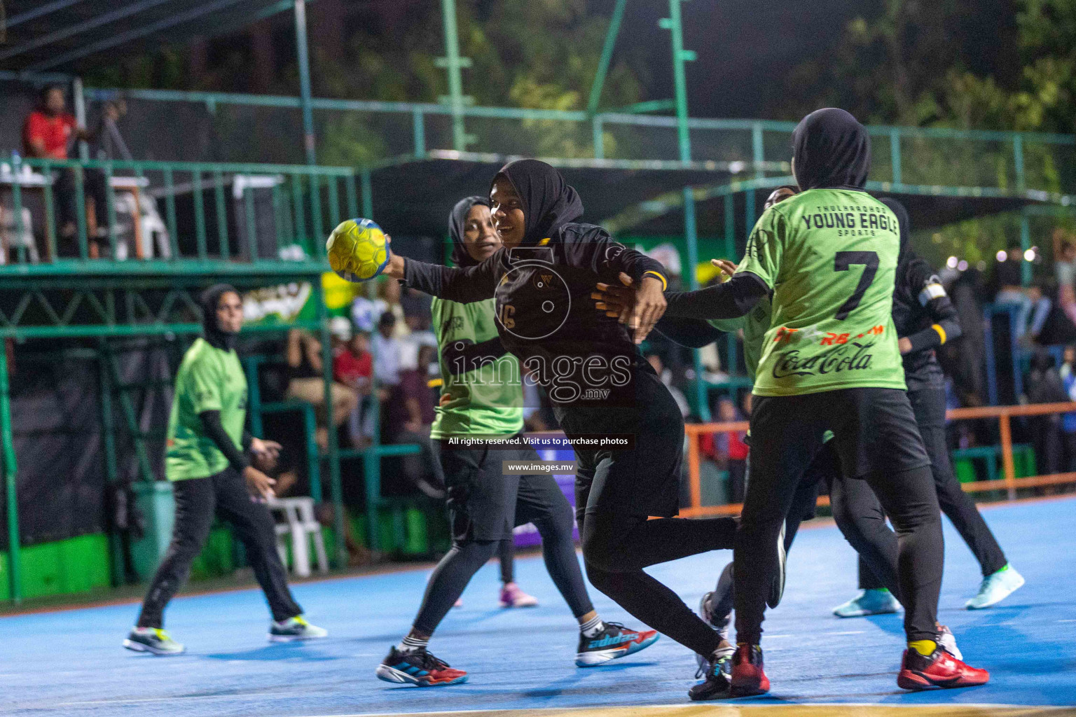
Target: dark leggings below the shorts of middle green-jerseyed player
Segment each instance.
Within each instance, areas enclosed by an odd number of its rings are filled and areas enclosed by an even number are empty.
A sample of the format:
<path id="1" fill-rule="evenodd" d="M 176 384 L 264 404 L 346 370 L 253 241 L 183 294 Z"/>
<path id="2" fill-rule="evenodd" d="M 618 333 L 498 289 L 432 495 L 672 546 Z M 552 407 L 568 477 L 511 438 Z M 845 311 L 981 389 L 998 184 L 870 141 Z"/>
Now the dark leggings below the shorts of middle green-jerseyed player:
<path id="1" fill-rule="evenodd" d="M 491 465 L 495 463 L 498 472 L 499 459 L 499 456 L 490 459 Z M 451 484 L 455 476 L 445 477 Z M 546 570 L 571 608 L 571 614 L 578 618 L 594 610 L 586 594 L 583 574 L 576 557 L 576 544 L 571 537 L 571 506 L 552 476 L 520 476 L 514 522 L 533 522 L 538 529 L 542 539 Z M 437 563 L 426 584 L 426 592 L 413 628 L 425 635 L 434 634 L 475 573 L 496 555 L 506 540 L 510 539 L 478 540 L 457 536 L 452 549 Z"/>

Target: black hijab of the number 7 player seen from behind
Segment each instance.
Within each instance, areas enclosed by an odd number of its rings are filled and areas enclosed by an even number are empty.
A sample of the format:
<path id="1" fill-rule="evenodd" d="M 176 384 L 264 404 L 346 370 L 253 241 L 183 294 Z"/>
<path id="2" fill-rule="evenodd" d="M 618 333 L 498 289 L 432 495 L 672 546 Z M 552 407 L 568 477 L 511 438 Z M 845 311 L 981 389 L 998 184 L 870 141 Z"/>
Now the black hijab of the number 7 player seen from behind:
<path id="1" fill-rule="evenodd" d="M 870 137 L 844 110 L 818 110 L 792 133 L 801 189 L 862 189 L 870 171 Z"/>

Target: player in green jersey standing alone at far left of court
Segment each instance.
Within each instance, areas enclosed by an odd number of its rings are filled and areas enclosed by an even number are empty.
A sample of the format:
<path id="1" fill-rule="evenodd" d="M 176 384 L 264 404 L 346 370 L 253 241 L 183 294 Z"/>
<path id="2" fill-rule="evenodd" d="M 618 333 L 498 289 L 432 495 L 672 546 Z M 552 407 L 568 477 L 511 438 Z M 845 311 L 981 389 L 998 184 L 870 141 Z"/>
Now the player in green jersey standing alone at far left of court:
<path id="1" fill-rule="evenodd" d="M 162 630 L 164 612 L 186 582 L 215 514 L 231 524 L 246 548 L 272 612 L 269 640 L 324 637 L 328 633 L 303 619 L 287 588 L 272 515 L 265 504 L 274 482 L 263 470 L 271 469 L 280 444 L 243 430 L 246 375 L 235 348 L 243 322 L 242 302 L 236 289 L 217 284 L 202 293 L 201 305 L 202 336 L 183 356 L 168 419 L 165 474 L 175 494 L 172 542 L 124 647 L 155 655 L 183 653 L 183 645 Z"/>

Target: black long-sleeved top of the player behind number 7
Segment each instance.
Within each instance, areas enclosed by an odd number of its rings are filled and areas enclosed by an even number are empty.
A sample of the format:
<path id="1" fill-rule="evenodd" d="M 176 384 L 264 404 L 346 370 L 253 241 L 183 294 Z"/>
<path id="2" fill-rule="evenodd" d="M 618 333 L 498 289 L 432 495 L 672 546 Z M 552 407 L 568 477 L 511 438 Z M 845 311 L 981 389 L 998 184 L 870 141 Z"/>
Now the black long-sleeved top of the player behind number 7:
<path id="1" fill-rule="evenodd" d="M 896 335 L 911 341 L 904 355 L 908 390 L 940 386 L 944 374 L 934 349 L 961 334 L 960 320 L 942 279 L 921 257 L 897 267 L 893 325 Z"/>

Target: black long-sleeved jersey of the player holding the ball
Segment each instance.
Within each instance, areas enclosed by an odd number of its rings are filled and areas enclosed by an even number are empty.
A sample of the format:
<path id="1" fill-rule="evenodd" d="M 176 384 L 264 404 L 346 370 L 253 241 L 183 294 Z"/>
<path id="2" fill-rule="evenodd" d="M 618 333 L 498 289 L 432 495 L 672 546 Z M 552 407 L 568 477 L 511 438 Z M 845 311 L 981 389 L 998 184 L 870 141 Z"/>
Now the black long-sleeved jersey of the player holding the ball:
<path id="1" fill-rule="evenodd" d="M 461 303 L 496 299 L 505 349 L 539 372 L 555 403 L 603 404 L 615 402 L 633 369 L 652 371 L 627 328 L 595 311 L 591 299 L 597 282 L 619 285 L 620 272 L 636 284 L 649 274 L 665 285 L 661 262 L 600 227 L 572 223 L 540 246 L 500 248 L 466 269 L 407 259 L 404 283 Z M 606 388 L 612 392 L 603 395 Z M 628 393 L 622 396 L 629 400 Z"/>

